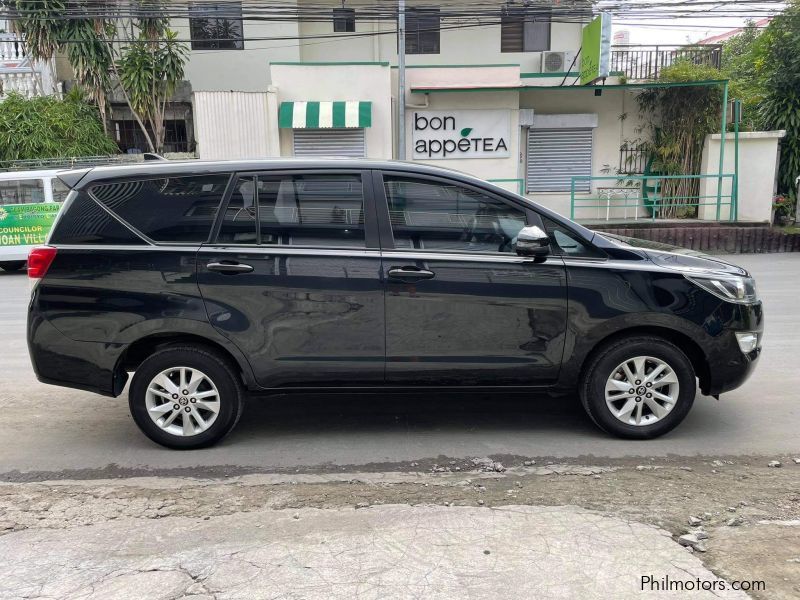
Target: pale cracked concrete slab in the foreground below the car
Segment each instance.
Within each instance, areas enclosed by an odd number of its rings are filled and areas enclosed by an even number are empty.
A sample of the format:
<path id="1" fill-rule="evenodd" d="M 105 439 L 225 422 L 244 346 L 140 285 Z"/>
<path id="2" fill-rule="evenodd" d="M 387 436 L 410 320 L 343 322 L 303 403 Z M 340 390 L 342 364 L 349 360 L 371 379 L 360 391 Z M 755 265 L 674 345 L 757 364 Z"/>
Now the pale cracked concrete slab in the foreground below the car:
<path id="1" fill-rule="evenodd" d="M 572 506 L 126 518 L 0 536 L 0 598 L 747 598 L 651 525 Z M 710 584 L 707 584 L 710 585 Z"/>

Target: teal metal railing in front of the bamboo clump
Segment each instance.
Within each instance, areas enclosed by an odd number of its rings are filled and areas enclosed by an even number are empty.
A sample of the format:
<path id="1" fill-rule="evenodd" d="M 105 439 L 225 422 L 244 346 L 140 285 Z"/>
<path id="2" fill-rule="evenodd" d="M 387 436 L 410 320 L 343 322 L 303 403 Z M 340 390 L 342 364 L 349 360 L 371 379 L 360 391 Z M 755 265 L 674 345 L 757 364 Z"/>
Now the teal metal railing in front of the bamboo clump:
<path id="1" fill-rule="evenodd" d="M 579 182 L 591 192 L 581 193 Z M 584 186 L 585 187 L 585 186 Z M 579 222 L 701 219 L 736 220 L 736 176 L 576 175 L 570 185 L 570 218 Z"/>

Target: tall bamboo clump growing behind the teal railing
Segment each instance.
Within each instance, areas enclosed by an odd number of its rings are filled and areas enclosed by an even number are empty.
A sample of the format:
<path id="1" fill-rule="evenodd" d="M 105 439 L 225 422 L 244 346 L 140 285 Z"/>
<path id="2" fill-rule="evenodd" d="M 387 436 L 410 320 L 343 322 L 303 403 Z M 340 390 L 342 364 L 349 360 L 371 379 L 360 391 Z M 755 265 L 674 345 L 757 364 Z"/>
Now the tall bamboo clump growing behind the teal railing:
<path id="1" fill-rule="evenodd" d="M 692 83 L 721 79 L 719 70 L 706 65 L 680 60 L 664 68 L 660 81 Z M 709 133 L 720 126 L 722 89 L 718 85 L 657 87 L 637 95 L 641 111 L 651 117 L 649 153 L 652 169 L 663 175 L 699 174 L 703 144 Z M 662 197 L 665 217 L 690 216 L 677 206 L 699 194 L 698 179 L 666 179 Z M 676 198 L 670 203 L 668 198 Z"/>

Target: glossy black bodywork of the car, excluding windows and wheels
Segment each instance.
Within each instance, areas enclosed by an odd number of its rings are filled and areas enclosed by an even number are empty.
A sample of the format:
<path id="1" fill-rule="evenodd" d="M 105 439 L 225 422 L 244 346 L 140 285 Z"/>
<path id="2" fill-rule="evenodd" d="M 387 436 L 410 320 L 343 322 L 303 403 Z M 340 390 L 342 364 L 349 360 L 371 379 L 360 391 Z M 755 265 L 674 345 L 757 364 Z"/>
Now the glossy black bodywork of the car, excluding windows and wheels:
<path id="1" fill-rule="evenodd" d="M 322 250 L 210 243 L 59 246 L 30 303 L 28 340 L 39 379 L 115 396 L 132 348 L 171 336 L 222 348 L 251 390 L 513 386 L 563 393 L 574 390 L 599 343 L 643 330 L 696 344 L 707 394 L 737 387 L 757 361 L 760 349 L 742 355 L 734 332 L 763 331 L 761 304 L 724 302 L 683 275 L 687 268 L 744 270 L 627 246 L 452 171 L 370 161 L 187 162 L 73 171 L 62 179 L 83 190 L 104 179 L 166 173 L 340 168 L 372 177 L 373 190 L 382 190 L 381 172 L 486 190 L 524 208 L 529 224 L 546 216 L 607 256 L 415 256 L 393 248 L 382 192 L 369 191 L 367 226 L 377 232 L 345 259 Z M 216 260 L 254 271 L 209 271 Z M 352 268 L 342 269 L 342 260 Z M 429 269 L 436 277 L 399 281 L 388 275 L 394 267 Z"/>

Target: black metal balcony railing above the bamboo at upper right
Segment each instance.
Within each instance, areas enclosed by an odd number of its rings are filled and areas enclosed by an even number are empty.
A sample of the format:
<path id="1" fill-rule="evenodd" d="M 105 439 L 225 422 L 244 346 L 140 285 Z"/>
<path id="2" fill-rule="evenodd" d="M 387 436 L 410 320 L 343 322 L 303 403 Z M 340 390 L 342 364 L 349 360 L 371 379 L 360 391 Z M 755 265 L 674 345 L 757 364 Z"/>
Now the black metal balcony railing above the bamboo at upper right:
<path id="1" fill-rule="evenodd" d="M 679 60 L 719 69 L 722 65 L 722 45 L 611 47 L 611 71 L 621 72 L 634 81 L 658 79 L 664 67 Z"/>

